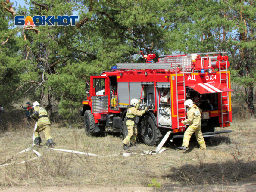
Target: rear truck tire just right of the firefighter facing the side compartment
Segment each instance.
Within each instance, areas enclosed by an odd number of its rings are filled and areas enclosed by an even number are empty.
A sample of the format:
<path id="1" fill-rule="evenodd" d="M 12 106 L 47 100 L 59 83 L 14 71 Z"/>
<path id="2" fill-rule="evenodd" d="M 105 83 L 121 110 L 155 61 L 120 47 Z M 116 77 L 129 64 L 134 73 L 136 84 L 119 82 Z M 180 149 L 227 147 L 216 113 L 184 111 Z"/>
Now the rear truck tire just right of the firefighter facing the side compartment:
<path id="1" fill-rule="evenodd" d="M 157 145 L 160 142 L 158 128 L 150 115 L 142 119 L 141 137 L 142 141 L 149 146 Z"/>

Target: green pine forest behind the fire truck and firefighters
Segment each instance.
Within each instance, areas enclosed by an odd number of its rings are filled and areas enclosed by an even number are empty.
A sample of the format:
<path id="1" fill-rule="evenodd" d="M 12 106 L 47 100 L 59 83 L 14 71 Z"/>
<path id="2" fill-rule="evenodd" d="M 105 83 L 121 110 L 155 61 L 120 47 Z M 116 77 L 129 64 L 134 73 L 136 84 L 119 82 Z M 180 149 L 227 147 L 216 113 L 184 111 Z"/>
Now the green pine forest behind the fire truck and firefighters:
<path id="1" fill-rule="evenodd" d="M 24 98 L 63 118 L 77 117 L 89 76 L 115 63 L 157 55 L 226 51 L 231 81 L 254 115 L 254 0 L 40 0 L 21 7 L 0 0 L 0 102 Z M 76 26 L 14 25 L 16 15 L 72 15 Z M 56 105 L 58 107 L 56 107 Z M 17 105 L 16 105 L 17 106 Z"/>

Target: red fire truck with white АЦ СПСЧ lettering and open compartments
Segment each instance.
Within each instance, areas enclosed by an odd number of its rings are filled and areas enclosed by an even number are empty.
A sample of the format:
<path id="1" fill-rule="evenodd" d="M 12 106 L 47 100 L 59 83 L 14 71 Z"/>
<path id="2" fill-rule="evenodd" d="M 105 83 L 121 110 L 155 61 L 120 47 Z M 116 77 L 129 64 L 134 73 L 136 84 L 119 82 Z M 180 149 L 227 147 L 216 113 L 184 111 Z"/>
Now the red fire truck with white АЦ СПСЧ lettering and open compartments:
<path id="1" fill-rule="evenodd" d="M 128 134 L 126 111 L 133 98 L 142 98 L 149 111 L 137 117 L 138 136 L 145 144 L 155 145 L 171 131 L 171 138 L 181 138 L 188 125 L 184 101 L 192 99 L 203 112 L 204 137 L 215 127 L 229 127 L 232 122 L 230 71 L 226 52 L 163 55 L 153 63 L 117 63 L 111 71 L 91 76 L 86 82 L 87 100 L 83 101 L 84 128 L 87 135 L 113 130 Z"/>

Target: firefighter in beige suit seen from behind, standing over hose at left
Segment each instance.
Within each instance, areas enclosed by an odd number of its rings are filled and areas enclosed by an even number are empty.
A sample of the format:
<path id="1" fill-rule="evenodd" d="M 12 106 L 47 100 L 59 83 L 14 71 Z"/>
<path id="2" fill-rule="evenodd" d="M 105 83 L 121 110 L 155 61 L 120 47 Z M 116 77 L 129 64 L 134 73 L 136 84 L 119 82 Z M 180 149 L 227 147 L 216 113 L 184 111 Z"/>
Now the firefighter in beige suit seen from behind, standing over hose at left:
<path id="1" fill-rule="evenodd" d="M 47 111 L 42 106 L 40 106 L 40 104 L 37 101 L 33 103 L 33 107 L 34 112 L 30 117 L 34 117 L 35 119 L 37 119 L 37 128 L 35 130 L 34 144 L 40 145 L 40 143 L 42 143 L 42 139 L 39 133 L 43 131 L 43 133 L 45 134 L 45 138 L 47 140 L 47 145 L 51 148 L 54 148 L 52 137 L 50 135 L 51 123 Z"/>

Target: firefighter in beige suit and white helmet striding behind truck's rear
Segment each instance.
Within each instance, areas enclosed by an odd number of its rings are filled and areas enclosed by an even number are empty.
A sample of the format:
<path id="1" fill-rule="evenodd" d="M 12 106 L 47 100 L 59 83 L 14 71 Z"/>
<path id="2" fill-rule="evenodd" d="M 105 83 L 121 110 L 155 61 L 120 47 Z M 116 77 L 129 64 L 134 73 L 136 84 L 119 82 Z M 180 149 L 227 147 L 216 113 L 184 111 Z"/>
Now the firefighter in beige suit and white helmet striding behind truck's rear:
<path id="1" fill-rule="evenodd" d="M 188 119 L 181 122 L 184 125 L 189 124 L 189 127 L 184 133 L 182 147 L 178 147 L 178 149 L 186 150 L 189 146 L 189 140 L 191 138 L 191 135 L 195 132 L 195 136 L 200 145 L 200 149 L 205 150 L 206 145 L 201 131 L 202 110 L 197 107 L 191 99 L 186 100 L 184 105 L 186 105 L 186 107 L 189 107 L 189 111 L 187 113 Z"/>

